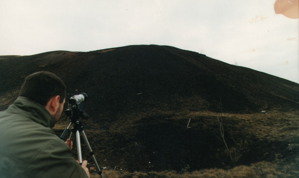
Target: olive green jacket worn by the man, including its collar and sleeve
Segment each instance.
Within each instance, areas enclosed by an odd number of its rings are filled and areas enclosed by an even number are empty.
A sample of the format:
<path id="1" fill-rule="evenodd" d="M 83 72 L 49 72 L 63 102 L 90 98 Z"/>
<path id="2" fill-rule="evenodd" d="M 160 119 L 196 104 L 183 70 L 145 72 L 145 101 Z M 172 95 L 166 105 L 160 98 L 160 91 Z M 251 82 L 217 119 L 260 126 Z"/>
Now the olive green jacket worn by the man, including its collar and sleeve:
<path id="1" fill-rule="evenodd" d="M 45 107 L 25 97 L 0 112 L 0 177 L 88 177 L 54 124 Z"/>

